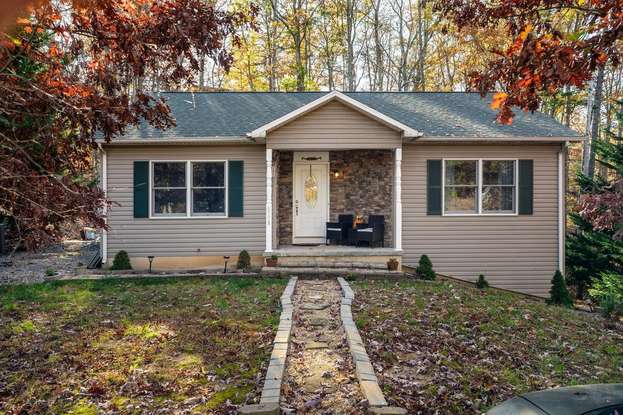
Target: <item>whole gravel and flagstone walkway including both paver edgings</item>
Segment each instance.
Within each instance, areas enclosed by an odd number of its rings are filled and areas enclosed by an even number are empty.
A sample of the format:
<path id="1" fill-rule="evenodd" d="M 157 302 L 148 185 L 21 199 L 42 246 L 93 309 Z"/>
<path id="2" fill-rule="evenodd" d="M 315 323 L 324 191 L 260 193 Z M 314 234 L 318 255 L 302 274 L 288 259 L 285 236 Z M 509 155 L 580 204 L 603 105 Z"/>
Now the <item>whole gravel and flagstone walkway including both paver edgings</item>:
<path id="1" fill-rule="evenodd" d="M 240 414 L 393 414 L 351 314 L 354 293 L 337 280 L 292 277 L 259 404 Z"/>

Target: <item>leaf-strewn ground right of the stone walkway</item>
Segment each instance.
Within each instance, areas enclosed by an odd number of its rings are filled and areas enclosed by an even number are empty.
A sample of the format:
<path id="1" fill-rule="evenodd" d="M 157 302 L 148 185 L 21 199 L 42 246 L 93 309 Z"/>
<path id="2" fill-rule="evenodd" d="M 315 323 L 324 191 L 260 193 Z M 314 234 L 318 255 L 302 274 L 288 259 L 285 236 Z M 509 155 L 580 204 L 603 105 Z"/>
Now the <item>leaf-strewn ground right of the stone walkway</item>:
<path id="1" fill-rule="evenodd" d="M 354 320 L 389 404 L 481 413 L 521 393 L 623 382 L 601 317 L 441 282 L 357 282 Z"/>

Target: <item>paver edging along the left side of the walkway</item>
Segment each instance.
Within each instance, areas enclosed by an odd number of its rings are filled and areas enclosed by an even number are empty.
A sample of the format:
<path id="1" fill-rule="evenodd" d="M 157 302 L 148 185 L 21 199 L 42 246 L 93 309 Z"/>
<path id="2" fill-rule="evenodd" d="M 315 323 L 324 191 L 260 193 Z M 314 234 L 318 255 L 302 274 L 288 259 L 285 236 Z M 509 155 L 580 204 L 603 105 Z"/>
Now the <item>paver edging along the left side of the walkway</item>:
<path id="1" fill-rule="evenodd" d="M 260 404 L 279 404 L 281 381 L 283 373 L 285 373 L 285 358 L 288 355 L 288 340 L 290 340 L 290 331 L 292 330 L 292 312 L 294 310 L 292 295 L 297 280 L 297 277 L 290 278 L 280 298 L 282 312 L 279 317 L 277 335 L 273 341 L 273 351 L 270 355 L 269 368 L 266 371 Z"/>

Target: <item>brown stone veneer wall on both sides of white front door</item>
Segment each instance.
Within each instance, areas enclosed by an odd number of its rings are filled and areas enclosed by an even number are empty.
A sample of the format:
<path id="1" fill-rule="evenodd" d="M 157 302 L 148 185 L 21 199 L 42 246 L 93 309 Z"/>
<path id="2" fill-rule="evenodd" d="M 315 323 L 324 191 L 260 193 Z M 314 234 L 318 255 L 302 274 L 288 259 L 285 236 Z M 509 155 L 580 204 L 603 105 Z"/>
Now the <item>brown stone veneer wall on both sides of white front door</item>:
<path id="1" fill-rule="evenodd" d="M 292 244 L 292 151 L 278 157 L 277 229 L 281 245 Z M 329 170 L 343 172 L 330 178 L 330 220 L 339 214 L 385 215 L 385 246 L 392 246 L 393 166 L 391 150 L 330 151 Z M 290 194 L 288 194 L 288 192 Z"/>

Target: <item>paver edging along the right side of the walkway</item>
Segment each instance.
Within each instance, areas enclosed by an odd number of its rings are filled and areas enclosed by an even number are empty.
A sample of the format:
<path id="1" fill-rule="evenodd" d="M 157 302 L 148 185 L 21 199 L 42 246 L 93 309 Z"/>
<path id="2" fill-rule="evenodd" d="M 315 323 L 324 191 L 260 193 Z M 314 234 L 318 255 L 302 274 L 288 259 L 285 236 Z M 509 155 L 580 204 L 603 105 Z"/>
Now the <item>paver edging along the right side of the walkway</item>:
<path id="1" fill-rule="evenodd" d="M 351 356 L 353 356 L 354 370 L 357 379 L 359 379 L 361 393 L 363 393 L 364 398 L 368 401 L 368 406 L 371 408 L 388 406 L 383 392 L 379 387 L 379 382 L 376 379 L 376 373 L 374 373 L 372 363 L 370 363 L 370 359 L 368 358 L 366 347 L 359 335 L 357 326 L 353 322 L 353 313 L 351 311 L 351 305 L 354 300 L 353 289 L 351 289 L 348 282 L 341 277 L 338 277 L 338 283 L 344 292 L 344 298 L 340 305 L 340 317 L 342 319 L 344 332 L 346 333 L 346 341 L 350 348 Z"/>

